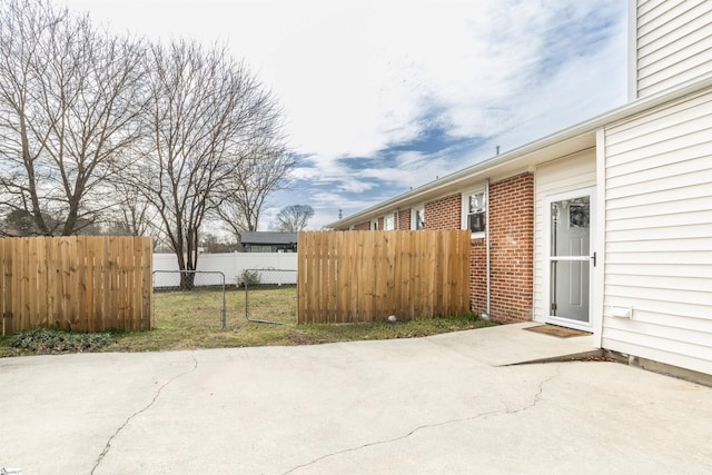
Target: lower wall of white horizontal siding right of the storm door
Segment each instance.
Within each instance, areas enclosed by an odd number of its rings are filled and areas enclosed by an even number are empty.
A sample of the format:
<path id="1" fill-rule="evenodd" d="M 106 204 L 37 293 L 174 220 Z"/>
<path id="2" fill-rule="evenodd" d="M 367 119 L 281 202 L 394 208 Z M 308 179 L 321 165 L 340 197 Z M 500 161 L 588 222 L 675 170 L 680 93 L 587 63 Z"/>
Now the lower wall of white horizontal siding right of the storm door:
<path id="1" fill-rule="evenodd" d="M 602 346 L 712 373 L 712 92 L 605 131 Z M 611 316 L 630 307 L 633 318 Z"/>

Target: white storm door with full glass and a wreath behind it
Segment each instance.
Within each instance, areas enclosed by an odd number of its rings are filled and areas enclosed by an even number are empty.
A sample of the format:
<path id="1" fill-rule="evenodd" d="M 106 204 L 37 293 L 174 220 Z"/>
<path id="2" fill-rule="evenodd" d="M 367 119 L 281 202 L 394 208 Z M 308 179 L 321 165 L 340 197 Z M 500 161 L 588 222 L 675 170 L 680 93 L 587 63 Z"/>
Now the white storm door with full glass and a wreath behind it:
<path id="1" fill-rule="evenodd" d="M 590 331 L 595 189 L 545 199 L 547 323 Z"/>

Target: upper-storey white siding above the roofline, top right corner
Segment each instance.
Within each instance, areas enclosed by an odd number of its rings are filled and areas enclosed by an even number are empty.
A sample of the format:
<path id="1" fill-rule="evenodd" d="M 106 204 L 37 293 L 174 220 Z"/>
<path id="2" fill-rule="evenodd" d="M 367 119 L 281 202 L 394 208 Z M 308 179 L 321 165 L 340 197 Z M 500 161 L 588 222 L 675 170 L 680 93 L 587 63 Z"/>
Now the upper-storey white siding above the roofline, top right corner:
<path id="1" fill-rule="evenodd" d="M 637 97 L 710 72 L 712 1 L 639 0 L 634 38 Z"/>

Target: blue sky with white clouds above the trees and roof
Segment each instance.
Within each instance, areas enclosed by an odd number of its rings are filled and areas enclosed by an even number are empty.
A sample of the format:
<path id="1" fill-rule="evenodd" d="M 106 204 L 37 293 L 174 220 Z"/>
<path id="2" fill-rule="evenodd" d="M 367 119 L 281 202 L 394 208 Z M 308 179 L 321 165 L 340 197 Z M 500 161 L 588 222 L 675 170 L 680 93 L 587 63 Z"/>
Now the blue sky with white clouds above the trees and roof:
<path id="1" fill-rule="evenodd" d="M 98 26 L 227 44 L 298 158 L 260 219 L 320 229 L 626 100 L 624 0 L 67 0 Z"/>

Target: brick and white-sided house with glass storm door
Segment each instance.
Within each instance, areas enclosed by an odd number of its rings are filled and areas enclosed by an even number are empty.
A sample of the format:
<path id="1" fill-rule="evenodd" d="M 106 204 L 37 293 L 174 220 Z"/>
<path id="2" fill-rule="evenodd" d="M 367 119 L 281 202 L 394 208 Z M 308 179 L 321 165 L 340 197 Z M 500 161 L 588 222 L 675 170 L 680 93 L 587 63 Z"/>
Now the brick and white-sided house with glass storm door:
<path id="1" fill-rule="evenodd" d="M 627 105 L 329 225 L 472 230 L 471 306 L 712 374 L 712 1 L 630 1 Z"/>

